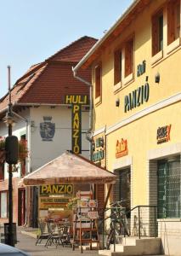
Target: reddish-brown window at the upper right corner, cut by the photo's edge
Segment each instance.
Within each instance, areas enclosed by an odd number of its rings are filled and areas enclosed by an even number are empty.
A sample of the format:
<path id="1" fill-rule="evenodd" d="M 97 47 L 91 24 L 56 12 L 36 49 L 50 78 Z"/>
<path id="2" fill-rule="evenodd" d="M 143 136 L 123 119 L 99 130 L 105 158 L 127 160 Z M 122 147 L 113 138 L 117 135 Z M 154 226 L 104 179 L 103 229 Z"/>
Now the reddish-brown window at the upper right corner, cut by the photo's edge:
<path id="1" fill-rule="evenodd" d="M 167 44 L 180 36 L 180 0 L 172 0 L 167 5 Z"/>

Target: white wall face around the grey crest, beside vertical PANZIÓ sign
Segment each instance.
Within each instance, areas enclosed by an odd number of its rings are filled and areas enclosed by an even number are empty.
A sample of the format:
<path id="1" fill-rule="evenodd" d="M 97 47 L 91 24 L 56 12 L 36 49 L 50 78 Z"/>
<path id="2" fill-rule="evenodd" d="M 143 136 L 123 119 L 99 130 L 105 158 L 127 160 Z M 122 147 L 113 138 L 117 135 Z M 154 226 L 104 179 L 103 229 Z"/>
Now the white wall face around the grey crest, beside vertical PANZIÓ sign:
<path id="1" fill-rule="evenodd" d="M 52 141 L 43 141 L 40 124 L 43 117 L 52 117 L 55 132 Z M 88 131 L 88 112 L 82 112 L 82 132 Z M 88 150 L 88 141 L 82 134 L 82 149 Z M 31 108 L 31 172 L 48 163 L 66 150 L 71 150 L 71 109 L 68 107 Z M 88 157 L 88 152 L 82 152 Z"/>

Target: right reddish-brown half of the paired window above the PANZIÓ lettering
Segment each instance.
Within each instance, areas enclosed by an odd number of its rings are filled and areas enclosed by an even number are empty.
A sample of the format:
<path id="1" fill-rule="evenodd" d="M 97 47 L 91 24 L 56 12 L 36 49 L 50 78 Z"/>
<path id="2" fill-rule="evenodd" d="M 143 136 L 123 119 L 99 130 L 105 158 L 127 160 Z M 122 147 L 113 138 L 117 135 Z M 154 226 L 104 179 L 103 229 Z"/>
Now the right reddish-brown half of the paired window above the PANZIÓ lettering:
<path id="1" fill-rule="evenodd" d="M 133 73 L 133 39 L 125 44 L 125 77 Z"/>

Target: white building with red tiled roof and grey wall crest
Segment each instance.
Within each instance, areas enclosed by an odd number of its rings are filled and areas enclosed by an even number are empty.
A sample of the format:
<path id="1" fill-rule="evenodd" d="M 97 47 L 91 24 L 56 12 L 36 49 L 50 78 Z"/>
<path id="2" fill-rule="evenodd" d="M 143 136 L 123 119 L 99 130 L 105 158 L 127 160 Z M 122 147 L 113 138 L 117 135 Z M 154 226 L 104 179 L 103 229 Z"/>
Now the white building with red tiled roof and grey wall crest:
<path id="1" fill-rule="evenodd" d="M 74 79 L 71 72 L 82 56 L 88 52 L 96 39 L 83 37 L 60 49 L 46 61 L 32 66 L 14 84 L 11 90 L 15 125 L 13 134 L 27 141 L 28 157 L 14 167 L 13 210 L 14 222 L 19 225 L 37 223 L 37 188 L 25 188 L 21 177 L 37 170 L 50 160 L 74 150 L 72 144 L 72 103 L 80 103 L 89 97 L 89 88 Z M 82 73 L 84 79 L 91 80 L 91 70 Z M 66 97 L 73 97 L 67 102 Z M 79 96 L 79 97 L 77 97 Z M 89 158 L 86 132 L 89 129 L 89 102 L 81 102 L 79 112 L 80 154 Z M 8 129 L 3 123 L 7 111 L 8 95 L 0 102 L 0 135 L 6 137 Z M 76 122 L 77 123 L 77 122 Z M 77 128 L 77 124 L 76 124 Z M 75 149 L 76 150 L 76 149 Z M 8 221 L 8 166 L 1 165 L 0 180 L 0 222 Z"/>

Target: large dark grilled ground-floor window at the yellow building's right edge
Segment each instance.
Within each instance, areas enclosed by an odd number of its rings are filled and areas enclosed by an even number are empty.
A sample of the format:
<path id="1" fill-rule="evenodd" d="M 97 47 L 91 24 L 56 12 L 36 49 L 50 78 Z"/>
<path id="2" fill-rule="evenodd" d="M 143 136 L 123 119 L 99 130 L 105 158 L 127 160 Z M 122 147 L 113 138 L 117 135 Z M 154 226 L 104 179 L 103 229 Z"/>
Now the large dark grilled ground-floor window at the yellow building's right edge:
<path id="1" fill-rule="evenodd" d="M 181 217 L 180 160 L 158 162 L 158 218 Z"/>

